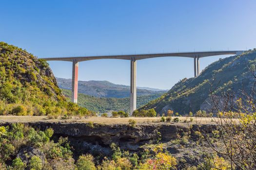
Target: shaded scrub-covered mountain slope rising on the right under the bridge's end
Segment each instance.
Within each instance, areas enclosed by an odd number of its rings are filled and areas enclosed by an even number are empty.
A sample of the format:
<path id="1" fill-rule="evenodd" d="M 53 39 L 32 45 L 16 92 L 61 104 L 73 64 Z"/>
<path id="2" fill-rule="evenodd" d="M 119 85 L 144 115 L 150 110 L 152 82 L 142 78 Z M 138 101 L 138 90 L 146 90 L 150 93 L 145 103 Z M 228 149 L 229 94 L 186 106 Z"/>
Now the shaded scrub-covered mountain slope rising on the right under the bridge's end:
<path id="1" fill-rule="evenodd" d="M 255 71 L 255 65 L 256 49 L 219 59 L 198 77 L 182 79 L 167 93 L 140 109 L 154 108 L 158 113 L 166 113 L 170 109 L 180 114 L 208 110 L 211 89 L 217 95 L 223 91 L 234 91 L 237 95 L 241 90 L 249 92 L 255 82 L 251 71 Z"/>

